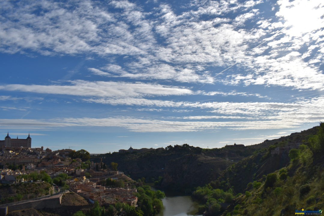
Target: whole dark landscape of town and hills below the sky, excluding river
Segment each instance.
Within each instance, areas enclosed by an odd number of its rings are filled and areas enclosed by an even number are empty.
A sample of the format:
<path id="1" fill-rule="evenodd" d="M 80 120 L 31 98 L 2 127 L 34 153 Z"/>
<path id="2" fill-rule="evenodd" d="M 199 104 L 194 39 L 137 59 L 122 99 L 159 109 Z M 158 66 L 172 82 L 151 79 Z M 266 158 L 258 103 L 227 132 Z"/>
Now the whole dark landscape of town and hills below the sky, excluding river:
<path id="1" fill-rule="evenodd" d="M 30 134 L 9 133 L 0 144 L 0 216 L 155 216 L 164 208 L 159 189 L 191 195 L 200 204 L 195 215 L 204 216 L 321 215 L 324 205 L 324 123 L 213 149 L 131 146 L 90 155 L 32 148 Z"/>

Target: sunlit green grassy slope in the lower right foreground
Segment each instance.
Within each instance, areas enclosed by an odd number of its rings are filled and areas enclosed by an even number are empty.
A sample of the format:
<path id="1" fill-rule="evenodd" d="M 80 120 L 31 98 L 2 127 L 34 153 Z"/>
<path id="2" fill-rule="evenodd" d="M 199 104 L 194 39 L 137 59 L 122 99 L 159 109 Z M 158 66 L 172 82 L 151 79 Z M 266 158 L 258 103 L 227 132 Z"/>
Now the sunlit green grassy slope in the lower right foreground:
<path id="1" fill-rule="evenodd" d="M 324 157 L 303 150 L 304 158 L 258 179 L 223 215 L 294 215 L 295 210 L 324 208 Z M 272 180 L 269 180 L 271 179 Z"/>

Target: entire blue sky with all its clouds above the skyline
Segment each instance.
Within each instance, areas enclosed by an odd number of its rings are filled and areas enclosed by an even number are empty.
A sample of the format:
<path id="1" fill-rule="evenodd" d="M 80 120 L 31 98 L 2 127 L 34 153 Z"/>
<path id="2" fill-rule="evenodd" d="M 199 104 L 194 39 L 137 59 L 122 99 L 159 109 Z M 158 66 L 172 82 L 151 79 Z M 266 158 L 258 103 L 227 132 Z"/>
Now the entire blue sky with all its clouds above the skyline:
<path id="1" fill-rule="evenodd" d="M 256 144 L 324 120 L 324 4 L 1 1 L 3 138 L 90 153 Z"/>

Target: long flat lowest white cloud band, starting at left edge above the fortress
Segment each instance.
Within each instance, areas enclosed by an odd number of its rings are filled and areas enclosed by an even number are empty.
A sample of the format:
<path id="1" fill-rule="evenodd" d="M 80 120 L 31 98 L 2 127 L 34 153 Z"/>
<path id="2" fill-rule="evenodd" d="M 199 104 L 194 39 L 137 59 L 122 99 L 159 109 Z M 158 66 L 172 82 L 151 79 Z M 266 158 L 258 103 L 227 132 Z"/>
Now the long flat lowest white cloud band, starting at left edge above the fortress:
<path id="1" fill-rule="evenodd" d="M 190 132 L 229 128 L 230 130 L 278 129 L 298 126 L 293 121 L 249 121 L 249 122 L 207 122 L 207 121 L 165 121 L 134 118 L 64 118 L 64 119 L 0 119 L 1 125 L 15 129 L 48 129 L 56 127 L 91 126 L 91 127 L 121 127 L 134 132 Z M 3 127 L 0 127 L 3 128 Z"/>

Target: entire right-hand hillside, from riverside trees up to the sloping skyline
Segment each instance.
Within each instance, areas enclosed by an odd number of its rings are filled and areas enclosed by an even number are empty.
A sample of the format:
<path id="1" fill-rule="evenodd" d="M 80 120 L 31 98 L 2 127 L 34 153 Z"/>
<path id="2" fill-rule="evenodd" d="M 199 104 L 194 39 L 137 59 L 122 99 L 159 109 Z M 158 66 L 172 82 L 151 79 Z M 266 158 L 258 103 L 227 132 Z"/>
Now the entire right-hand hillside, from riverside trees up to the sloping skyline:
<path id="1" fill-rule="evenodd" d="M 306 145 L 271 155 L 273 148 L 291 143 L 294 137 L 298 137 L 296 142 L 303 139 Z M 295 210 L 323 209 L 324 123 L 270 143 L 273 145 L 230 165 L 228 173 L 197 188 L 193 196 L 202 202 L 200 213 L 294 215 Z M 226 194 L 227 198 L 232 194 L 233 199 L 226 200 Z"/>

